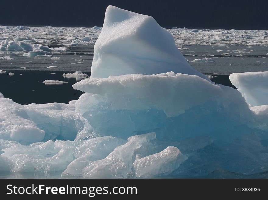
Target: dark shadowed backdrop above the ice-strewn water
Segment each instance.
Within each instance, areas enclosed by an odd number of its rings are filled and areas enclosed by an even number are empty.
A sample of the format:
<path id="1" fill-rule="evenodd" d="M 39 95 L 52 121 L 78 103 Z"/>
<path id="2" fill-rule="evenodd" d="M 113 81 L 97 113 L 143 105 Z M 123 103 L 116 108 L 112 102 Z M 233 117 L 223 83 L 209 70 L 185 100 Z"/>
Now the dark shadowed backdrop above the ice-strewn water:
<path id="1" fill-rule="evenodd" d="M 3 26 L 102 26 L 108 5 L 152 16 L 162 27 L 268 30 L 268 1 L 0 0 Z M 12 5 L 12 6 L 11 6 Z"/>

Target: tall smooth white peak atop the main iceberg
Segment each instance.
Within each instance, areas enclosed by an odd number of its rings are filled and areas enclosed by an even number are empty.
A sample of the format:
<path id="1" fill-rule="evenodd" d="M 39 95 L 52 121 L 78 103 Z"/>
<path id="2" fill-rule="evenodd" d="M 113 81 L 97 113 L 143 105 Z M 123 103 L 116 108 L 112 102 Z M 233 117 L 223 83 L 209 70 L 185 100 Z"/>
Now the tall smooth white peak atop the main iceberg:
<path id="1" fill-rule="evenodd" d="M 109 5 L 94 46 L 91 77 L 168 71 L 207 79 L 187 63 L 173 36 L 151 16 Z"/>

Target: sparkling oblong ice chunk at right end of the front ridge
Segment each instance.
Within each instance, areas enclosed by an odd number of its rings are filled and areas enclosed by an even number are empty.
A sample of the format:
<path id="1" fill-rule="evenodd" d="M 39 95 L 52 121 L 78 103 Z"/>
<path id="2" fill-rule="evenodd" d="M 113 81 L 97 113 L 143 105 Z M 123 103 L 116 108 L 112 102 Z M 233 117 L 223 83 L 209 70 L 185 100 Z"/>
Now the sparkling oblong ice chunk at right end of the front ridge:
<path id="1" fill-rule="evenodd" d="M 159 153 L 138 158 L 133 163 L 136 177 L 152 178 L 157 175 L 167 175 L 177 169 L 187 157 L 180 150 L 169 146 Z"/>

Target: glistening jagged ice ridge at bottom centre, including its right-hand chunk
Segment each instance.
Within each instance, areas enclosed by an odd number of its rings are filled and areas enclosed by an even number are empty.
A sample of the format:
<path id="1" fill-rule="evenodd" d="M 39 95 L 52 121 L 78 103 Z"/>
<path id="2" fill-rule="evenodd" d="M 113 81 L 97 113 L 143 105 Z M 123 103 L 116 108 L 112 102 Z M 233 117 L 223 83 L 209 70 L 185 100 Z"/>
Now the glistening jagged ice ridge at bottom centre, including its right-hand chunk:
<path id="1" fill-rule="evenodd" d="M 102 160 L 94 161 L 88 155 L 79 157 L 62 175 L 80 175 L 87 178 L 157 177 L 170 174 L 187 159 L 176 147 L 168 147 L 150 156 L 140 155 L 139 153 L 150 153 L 149 149 L 154 148 L 151 143 L 154 139 L 155 133 L 132 136 L 126 144 L 116 147 Z"/>

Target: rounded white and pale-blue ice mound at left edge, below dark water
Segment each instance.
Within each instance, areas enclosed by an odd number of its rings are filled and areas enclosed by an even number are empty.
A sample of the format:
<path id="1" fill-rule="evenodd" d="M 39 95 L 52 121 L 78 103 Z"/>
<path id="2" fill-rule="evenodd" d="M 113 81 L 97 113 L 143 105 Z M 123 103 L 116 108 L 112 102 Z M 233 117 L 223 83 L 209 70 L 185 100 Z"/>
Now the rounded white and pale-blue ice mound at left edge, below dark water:
<path id="1" fill-rule="evenodd" d="M 0 98 L 0 139 L 29 144 L 49 139 L 74 140 L 83 130 L 83 118 L 68 104 L 23 106 Z"/>

